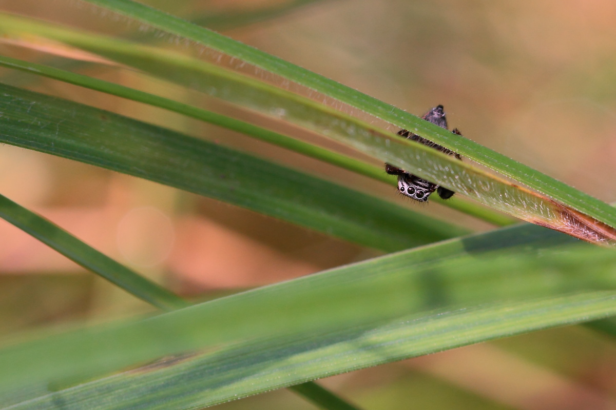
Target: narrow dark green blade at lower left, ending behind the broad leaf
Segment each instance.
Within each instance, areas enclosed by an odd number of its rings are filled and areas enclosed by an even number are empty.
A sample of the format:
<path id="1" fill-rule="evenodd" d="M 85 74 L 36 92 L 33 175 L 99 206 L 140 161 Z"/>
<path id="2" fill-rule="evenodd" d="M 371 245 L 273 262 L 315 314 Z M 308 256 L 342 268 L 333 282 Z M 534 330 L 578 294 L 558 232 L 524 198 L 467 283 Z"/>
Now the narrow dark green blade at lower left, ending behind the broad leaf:
<path id="1" fill-rule="evenodd" d="M 139 299 L 163 310 L 187 306 L 179 296 L 91 248 L 59 226 L 0 195 L 0 218 Z"/>

